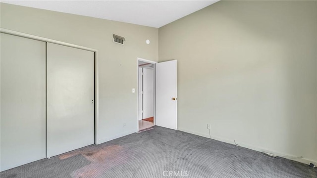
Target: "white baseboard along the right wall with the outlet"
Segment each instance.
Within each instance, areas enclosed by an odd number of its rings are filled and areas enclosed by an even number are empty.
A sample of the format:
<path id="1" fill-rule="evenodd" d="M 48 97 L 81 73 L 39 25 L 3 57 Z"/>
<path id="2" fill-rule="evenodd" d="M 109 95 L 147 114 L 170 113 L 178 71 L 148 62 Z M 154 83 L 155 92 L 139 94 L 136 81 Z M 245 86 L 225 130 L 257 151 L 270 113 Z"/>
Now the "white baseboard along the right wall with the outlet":
<path id="1" fill-rule="evenodd" d="M 199 136 L 211 138 L 211 139 L 214 139 L 214 140 L 217 140 L 217 141 L 221 141 L 221 142 L 225 142 L 225 143 L 229 143 L 229 144 L 235 144 L 234 140 L 229 140 L 229 139 L 226 139 L 226 138 L 216 137 L 216 136 L 212 136 L 212 135 L 210 136 L 209 134 L 201 133 L 201 132 L 195 132 L 195 131 L 192 131 L 192 130 L 188 130 L 186 128 L 178 128 L 177 130 L 183 131 L 183 132 L 187 132 L 187 133 L 191 133 L 191 134 L 194 134 L 194 135 L 199 135 Z M 274 150 L 269 150 L 269 149 L 266 149 L 266 148 L 263 148 L 263 147 L 253 146 L 253 145 L 249 145 L 249 144 L 245 144 L 245 143 L 241 143 L 241 142 L 237 142 L 237 144 L 239 146 L 241 146 L 241 147 L 244 147 L 244 148 L 248 148 L 248 149 L 251 149 L 251 150 L 259 151 L 259 152 L 262 152 L 262 153 L 264 153 L 264 152 L 272 153 L 272 154 L 277 155 L 279 157 L 286 158 L 286 159 L 293 160 L 293 161 L 297 161 L 297 162 L 304 163 L 304 164 L 316 163 L 317 162 L 317 160 L 314 161 L 314 160 L 310 160 L 310 159 L 306 159 L 306 158 L 289 158 L 289 157 L 298 157 L 298 156 L 289 155 L 289 154 L 286 154 L 286 153 L 281 153 L 281 152 L 277 152 L 277 151 L 274 151 Z"/>

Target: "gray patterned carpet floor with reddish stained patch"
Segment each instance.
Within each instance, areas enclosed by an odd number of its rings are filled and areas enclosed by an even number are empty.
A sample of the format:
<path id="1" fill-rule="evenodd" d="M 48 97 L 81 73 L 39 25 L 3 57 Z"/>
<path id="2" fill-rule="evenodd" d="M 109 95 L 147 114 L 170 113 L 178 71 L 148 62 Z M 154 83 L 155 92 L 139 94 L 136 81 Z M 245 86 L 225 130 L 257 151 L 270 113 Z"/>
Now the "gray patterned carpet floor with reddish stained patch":
<path id="1" fill-rule="evenodd" d="M 1 178 L 317 178 L 317 168 L 155 126 L 0 173 Z"/>

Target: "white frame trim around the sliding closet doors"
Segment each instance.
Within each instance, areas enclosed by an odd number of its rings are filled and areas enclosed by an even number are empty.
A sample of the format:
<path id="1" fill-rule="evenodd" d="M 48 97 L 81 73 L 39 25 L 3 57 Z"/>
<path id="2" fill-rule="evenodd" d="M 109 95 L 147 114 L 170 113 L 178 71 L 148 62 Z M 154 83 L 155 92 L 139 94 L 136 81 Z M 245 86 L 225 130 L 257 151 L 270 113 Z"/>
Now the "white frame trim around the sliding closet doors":
<path id="1" fill-rule="evenodd" d="M 29 38 L 29 39 L 33 39 L 33 40 L 38 40 L 38 41 L 43 41 L 43 42 L 49 42 L 49 43 L 54 43 L 54 44 L 58 44 L 58 45 L 63 45 L 63 46 L 68 46 L 68 47 L 72 47 L 72 48 L 78 48 L 81 50 L 87 50 L 87 51 L 91 51 L 95 53 L 95 65 L 94 65 L 94 78 L 95 78 L 95 120 L 94 120 L 94 142 L 95 144 L 100 144 L 99 143 L 99 132 L 98 132 L 98 125 L 99 125 L 99 52 L 97 49 L 93 49 L 93 48 L 88 48 L 88 47 L 84 47 L 84 46 L 79 46 L 79 45 L 74 45 L 74 44 L 70 44 L 70 43 L 65 43 L 65 42 L 61 42 L 61 41 L 57 41 L 57 40 L 52 40 L 49 38 L 44 38 L 44 37 L 39 37 L 39 36 L 35 36 L 35 35 L 30 35 L 27 33 L 22 33 L 22 32 L 17 32 L 17 31 L 13 31 L 13 30 L 9 30 L 9 29 L 5 29 L 5 28 L 0 28 L 0 33 L 5 33 L 5 34 L 9 34 L 9 35 L 14 35 L 14 36 L 19 36 L 19 37 L 24 37 L 24 38 Z M 47 118 L 46 118 L 47 119 Z"/>

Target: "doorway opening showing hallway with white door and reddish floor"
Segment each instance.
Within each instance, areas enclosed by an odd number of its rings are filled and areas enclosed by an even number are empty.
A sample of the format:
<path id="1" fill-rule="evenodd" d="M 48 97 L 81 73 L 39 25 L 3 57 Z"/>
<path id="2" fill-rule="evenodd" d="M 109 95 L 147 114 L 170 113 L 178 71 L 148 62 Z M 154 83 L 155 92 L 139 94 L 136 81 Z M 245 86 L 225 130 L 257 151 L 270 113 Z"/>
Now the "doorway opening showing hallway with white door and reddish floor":
<path id="1" fill-rule="evenodd" d="M 138 58 L 138 131 L 156 125 L 155 63 Z"/>

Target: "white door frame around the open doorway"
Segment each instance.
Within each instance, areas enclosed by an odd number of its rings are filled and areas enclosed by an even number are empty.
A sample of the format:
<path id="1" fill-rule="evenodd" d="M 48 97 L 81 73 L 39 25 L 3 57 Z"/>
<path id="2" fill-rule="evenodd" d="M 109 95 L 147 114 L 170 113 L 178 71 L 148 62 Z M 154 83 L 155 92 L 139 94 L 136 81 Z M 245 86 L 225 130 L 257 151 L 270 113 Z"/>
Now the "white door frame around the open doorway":
<path id="1" fill-rule="evenodd" d="M 140 107 L 139 107 L 139 100 L 140 100 L 140 88 L 139 88 L 139 61 L 142 62 L 148 62 L 148 63 L 152 63 L 154 65 L 153 67 L 153 118 L 154 118 L 154 125 L 156 125 L 156 66 L 155 64 L 158 63 L 156 61 L 152 61 L 152 60 L 147 60 L 147 59 L 142 59 L 142 58 L 137 58 L 137 96 L 138 96 L 138 102 L 137 102 L 137 108 L 138 108 L 138 112 L 137 112 L 137 132 L 139 131 L 139 113 L 140 113 Z"/>

